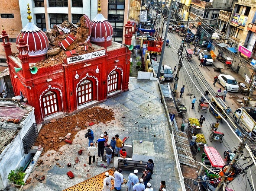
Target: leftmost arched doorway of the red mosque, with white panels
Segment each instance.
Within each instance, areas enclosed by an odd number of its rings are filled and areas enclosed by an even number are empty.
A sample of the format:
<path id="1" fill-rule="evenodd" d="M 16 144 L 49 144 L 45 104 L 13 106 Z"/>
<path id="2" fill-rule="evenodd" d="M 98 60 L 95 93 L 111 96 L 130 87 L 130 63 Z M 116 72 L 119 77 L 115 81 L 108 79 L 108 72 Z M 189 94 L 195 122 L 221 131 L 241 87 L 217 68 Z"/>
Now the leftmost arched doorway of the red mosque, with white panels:
<path id="1" fill-rule="evenodd" d="M 58 99 L 56 92 L 48 91 L 42 97 L 44 117 L 58 112 Z"/>

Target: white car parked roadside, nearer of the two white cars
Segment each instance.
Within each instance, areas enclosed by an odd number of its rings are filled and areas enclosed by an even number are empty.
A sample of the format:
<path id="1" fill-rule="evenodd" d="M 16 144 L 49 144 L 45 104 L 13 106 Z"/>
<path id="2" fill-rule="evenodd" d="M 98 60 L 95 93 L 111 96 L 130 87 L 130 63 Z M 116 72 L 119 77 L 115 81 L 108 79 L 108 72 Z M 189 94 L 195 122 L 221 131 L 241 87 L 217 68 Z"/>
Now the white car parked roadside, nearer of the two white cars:
<path id="1" fill-rule="evenodd" d="M 238 92 L 239 91 L 239 86 L 237 84 L 237 80 L 234 79 L 230 75 L 220 74 L 218 76 L 217 83 L 220 83 L 224 87 L 224 89 L 227 88 L 227 91 L 229 91 L 229 92 Z"/>

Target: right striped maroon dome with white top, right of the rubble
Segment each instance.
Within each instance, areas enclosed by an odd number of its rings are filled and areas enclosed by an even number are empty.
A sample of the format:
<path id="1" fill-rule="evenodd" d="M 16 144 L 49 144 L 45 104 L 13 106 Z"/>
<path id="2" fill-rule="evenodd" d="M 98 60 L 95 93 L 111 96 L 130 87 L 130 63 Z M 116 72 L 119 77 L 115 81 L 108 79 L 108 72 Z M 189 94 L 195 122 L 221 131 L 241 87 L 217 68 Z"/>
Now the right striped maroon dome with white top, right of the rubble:
<path id="1" fill-rule="evenodd" d="M 91 42 L 95 45 L 104 46 L 104 36 L 107 36 L 107 46 L 112 45 L 113 27 L 101 13 L 91 21 Z"/>

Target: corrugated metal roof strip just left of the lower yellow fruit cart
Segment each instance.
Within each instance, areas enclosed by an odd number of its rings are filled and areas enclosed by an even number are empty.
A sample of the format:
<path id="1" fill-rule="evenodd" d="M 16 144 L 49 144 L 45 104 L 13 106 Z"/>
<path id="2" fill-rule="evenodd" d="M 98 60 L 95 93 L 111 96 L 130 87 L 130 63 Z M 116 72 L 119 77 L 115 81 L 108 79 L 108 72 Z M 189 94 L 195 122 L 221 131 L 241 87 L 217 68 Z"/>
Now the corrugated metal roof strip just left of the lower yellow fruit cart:
<path id="1" fill-rule="evenodd" d="M 189 147 L 187 134 L 182 131 L 175 131 L 174 138 L 175 145 L 178 151 L 179 162 L 181 164 L 189 165 L 196 168 L 195 163 L 191 160 L 193 159 L 193 155 Z"/>

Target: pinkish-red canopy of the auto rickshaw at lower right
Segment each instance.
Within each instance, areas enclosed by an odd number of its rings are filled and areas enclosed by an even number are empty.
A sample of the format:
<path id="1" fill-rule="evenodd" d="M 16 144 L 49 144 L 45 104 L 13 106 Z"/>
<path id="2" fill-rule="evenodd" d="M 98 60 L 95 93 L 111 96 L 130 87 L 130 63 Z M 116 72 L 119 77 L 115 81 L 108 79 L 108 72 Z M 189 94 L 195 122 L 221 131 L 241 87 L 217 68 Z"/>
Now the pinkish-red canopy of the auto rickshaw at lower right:
<path id="1" fill-rule="evenodd" d="M 207 155 L 208 159 L 211 162 L 211 166 L 215 168 L 222 168 L 225 165 L 225 162 L 221 158 L 220 154 L 214 147 L 205 146 L 204 152 Z"/>

